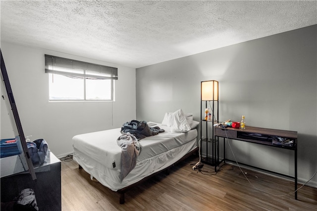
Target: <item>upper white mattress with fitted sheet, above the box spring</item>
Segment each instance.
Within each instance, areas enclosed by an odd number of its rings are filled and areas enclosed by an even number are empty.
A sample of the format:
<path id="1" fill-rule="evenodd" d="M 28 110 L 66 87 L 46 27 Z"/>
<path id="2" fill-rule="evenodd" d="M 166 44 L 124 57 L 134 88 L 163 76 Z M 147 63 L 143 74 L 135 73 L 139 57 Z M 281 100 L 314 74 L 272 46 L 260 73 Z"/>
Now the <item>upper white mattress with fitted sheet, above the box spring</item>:
<path id="1" fill-rule="evenodd" d="M 187 133 L 175 133 L 170 132 L 169 127 L 162 126 L 161 124 L 155 126 L 159 126 L 165 132 L 146 137 L 139 141 L 142 145 L 142 150 L 137 162 L 164 153 L 197 137 L 196 129 L 190 130 Z M 121 135 L 120 130 L 121 128 L 115 128 L 76 135 L 73 137 L 73 147 L 89 155 L 106 168 L 113 169 L 113 164 L 115 164 L 114 169 L 120 169 L 121 148 L 116 142 L 117 138 Z"/>

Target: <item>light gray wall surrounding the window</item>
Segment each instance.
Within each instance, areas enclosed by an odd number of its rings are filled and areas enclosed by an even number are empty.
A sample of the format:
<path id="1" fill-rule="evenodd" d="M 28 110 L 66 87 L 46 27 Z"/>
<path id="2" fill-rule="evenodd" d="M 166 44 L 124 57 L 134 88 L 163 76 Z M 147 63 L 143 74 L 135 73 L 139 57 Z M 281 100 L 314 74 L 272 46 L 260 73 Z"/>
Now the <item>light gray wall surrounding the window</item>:
<path id="1" fill-rule="evenodd" d="M 24 135 L 32 135 L 32 141 L 44 138 L 57 157 L 73 152 L 74 135 L 121 127 L 136 118 L 135 68 L 8 42 L 1 42 L 1 51 Z M 117 67 L 115 102 L 49 102 L 44 54 Z M 0 136 L 14 137 L 6 106 L 0 102 Z"/>

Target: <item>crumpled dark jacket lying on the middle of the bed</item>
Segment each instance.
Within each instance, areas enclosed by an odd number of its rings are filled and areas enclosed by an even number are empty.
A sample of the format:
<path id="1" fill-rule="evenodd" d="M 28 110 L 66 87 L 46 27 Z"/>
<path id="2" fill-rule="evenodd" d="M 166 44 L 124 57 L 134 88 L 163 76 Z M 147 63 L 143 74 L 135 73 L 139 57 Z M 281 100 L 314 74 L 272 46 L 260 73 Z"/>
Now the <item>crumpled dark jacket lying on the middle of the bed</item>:
<path id="1" fill-rule="evenodd" d="M 147 136 L 157 135 L 159 132 L 164 132 L 165 130 L 157 127 L 149 127 L 146 121 L 132 120 L 130 122 L 124 123 L 121 127 L 121 133 L 131 133 L 138 140 L 145 138 Z"/>

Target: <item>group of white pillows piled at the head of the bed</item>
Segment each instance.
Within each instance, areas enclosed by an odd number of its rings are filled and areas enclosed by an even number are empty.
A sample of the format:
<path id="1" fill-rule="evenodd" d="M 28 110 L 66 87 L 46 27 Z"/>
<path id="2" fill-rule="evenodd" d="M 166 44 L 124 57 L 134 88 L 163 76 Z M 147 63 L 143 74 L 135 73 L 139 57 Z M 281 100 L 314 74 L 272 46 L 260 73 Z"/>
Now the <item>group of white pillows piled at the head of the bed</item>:
<path id="1" fill-rule="evenodd" d="M 174 113 L 165 113 L 162 125 L 170 127 L 173 132 L 188 132 L 196 128 L 199 122 L 193 120 L 193 114 L 184 114 L 182 109 L 179 109 Z"/>

